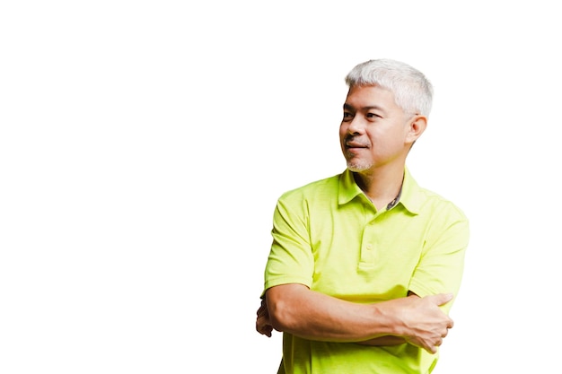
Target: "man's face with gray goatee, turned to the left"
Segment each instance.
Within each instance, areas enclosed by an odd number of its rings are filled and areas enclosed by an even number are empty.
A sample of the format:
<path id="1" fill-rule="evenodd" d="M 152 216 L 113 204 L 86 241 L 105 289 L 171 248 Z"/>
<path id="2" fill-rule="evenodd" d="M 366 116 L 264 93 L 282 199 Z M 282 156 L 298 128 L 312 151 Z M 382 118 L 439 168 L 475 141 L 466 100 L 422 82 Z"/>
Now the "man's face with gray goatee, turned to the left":
<path id="1" fill-rule="evenodd" d="M 339 141 L 347 168 L 361 172 L 392 162 L 403 164 L 415 140 L 412 140 L 410 126 L 415 118 L 404 113 L 391 91 L 378 86 L 351 88 L 339 126 Z"/>

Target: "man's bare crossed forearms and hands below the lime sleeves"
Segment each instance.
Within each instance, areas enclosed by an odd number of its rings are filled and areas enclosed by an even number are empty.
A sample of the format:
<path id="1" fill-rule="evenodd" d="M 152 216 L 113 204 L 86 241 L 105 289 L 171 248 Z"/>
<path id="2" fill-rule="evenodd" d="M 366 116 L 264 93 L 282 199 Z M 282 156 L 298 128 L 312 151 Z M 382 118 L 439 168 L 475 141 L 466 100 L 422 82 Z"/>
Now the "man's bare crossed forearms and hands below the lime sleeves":
<path id="1" fill-rule="evenodd" d="M 368 345 L 409 343 L 437 352 L 452 319 L 439 308 L 452 294 L 408 297 L 375 304 L 357 304 L 289 283 L 266 291 L 258 309 L 256 330 L 271 336 L 273 329 L 329 342 Z"/>

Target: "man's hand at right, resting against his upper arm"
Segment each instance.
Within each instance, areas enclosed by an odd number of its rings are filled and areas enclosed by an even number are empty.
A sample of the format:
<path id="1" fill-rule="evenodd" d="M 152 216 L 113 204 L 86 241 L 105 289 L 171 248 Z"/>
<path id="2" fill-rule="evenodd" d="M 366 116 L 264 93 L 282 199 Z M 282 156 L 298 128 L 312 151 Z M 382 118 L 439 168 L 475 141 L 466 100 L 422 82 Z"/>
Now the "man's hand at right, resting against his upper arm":
<path id="1" fill-rule="evenodd" d="M 409 344 L 424 348 L 427 352 L 437 352 L 437 347 L 443 344 L 443 338 L 452 328 L 452 319 L 439 309 L 439 306 L 452 300 L 452 294 L 440 293 L 437 295 L 419 298 L 408 296 L 400 299 L 406 303 L 400 313 L 402 322 L 406 327 L 404 338 Z"/>

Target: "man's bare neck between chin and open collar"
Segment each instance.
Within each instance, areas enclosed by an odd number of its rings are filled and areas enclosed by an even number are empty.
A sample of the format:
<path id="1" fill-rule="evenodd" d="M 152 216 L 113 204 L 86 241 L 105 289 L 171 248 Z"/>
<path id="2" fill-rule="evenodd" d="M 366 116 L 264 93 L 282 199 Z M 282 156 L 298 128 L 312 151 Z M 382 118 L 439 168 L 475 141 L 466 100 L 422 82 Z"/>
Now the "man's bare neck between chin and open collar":
<path id="1" fill-rule="evenodd" d="M 377 209 L 389 204 L 398 194 L 404 179 L 404 166 L 353 173 L 357 186 Z"/>

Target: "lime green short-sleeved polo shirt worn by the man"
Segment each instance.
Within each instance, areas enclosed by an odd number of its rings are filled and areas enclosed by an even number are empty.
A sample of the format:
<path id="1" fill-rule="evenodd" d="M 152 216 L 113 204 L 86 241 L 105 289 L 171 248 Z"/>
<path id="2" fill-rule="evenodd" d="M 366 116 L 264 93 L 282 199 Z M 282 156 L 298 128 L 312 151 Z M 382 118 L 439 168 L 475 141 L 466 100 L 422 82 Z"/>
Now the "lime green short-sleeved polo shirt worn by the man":
<path id="1" fill-rule="evenodd" d="M 277 201 L 265 288 L 302 283 L 338 299 L 373 303 L 457 293 L 469 224 L 461 210 L 405 170 L 397 202 L 377 211 L 346 170 Z M 451 308 L 451 302 L 443 307 Z M 411 344 L 364 346 L 284 334 L 280 373 L 429 373 L 437 354 Z"/>

